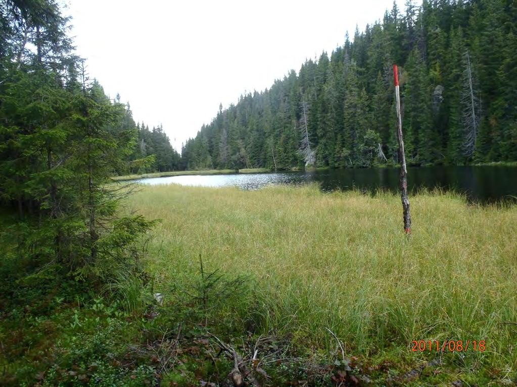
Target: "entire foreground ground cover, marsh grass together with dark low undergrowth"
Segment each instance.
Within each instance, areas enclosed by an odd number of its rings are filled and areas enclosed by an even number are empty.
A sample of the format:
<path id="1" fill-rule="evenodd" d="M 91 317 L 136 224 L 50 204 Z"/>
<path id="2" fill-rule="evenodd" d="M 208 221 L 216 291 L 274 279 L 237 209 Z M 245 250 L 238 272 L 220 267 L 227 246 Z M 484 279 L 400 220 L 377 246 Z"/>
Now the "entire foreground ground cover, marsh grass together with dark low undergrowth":
<path id="1" fill-rule="evenodd" d="M 513 385 L 517 207 L 421 192 L 407 237 L 399 200 L 145 187 L 125 209 L 161 219 L 142 274 L 99 288 L 7 249 L 0 381 L 230 385 L 235 351 L 260 385 Z"/>

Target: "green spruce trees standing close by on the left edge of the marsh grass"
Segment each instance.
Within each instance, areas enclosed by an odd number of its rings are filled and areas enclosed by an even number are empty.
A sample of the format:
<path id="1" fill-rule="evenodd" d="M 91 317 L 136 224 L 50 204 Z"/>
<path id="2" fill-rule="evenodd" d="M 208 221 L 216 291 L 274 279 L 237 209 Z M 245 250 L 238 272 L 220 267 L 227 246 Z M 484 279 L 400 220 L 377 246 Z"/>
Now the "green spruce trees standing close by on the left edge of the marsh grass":
<path id="1" fill-rule="evenodd" d="M 131 166 L 138 136 L 131 111 L 89 82 L 57 3 L 0 7 L 8 34 L 0 57 L 0 205 L 18 213 L 3 230 L 13 254 L 41 267 L 37 278 L 60 271 L 100 280 L 110 267 L 133 270 L 138 237 L 151 223 L 119 218 L 130 190 L 110 184 Z"/>

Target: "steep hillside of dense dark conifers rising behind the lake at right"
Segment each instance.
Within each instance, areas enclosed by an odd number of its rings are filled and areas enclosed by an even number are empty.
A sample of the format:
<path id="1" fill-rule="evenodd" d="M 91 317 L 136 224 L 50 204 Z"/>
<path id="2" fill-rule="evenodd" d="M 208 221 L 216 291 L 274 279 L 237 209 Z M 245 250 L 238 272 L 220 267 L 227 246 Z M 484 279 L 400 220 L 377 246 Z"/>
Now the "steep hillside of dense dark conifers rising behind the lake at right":
<path id="1" fill-rule="evenodd" d="M 263 92 L 219 108 L 185 169 L 397 163 L 392 65 L 409 164 L 517 160 L 517 5 L 412 1 Z M 273 159 L 274 157 L 274 159 Z"/>

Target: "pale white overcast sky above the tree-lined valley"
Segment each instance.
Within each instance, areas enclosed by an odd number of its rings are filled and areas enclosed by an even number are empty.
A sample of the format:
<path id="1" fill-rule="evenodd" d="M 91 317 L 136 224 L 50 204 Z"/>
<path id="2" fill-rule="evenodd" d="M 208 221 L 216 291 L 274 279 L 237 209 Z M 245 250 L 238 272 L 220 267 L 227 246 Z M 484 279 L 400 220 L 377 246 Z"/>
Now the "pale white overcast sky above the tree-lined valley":
<path id="1" fill-rule="evenodd" d="M 403 0 L 397 0 L 403 9 Z M 176 149 L 203 123 L 298 73 L 306 58 L 351 39 L 356 25 L 382 20 L 392 0 L 69 0 L 72 36 L 112 98 L 135 121 L 163 125 Z"/>

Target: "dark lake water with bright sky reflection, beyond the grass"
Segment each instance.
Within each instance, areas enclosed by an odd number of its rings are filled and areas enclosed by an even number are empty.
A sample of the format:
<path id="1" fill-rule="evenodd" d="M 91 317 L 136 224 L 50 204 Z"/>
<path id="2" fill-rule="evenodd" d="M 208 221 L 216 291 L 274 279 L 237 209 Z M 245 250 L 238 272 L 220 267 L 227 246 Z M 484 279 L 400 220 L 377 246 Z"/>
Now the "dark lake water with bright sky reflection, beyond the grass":
<path id="1" fill-rule="evenodd" d="M 465 193 L 469 200 L 496 202 L 517 199 L 517 167 L 468 166 L 408 168 L 408 188 L 442 188 Z M 258 189 L 270 184 L 306 184 L 318 182 L 324 191 L 379 188 L 397 192 L 398 168 L 331 169 L 310 172 L 242 173 L 226 175 L 188 175 L 142 179 L 145 184 L 169 184 Z"/>

